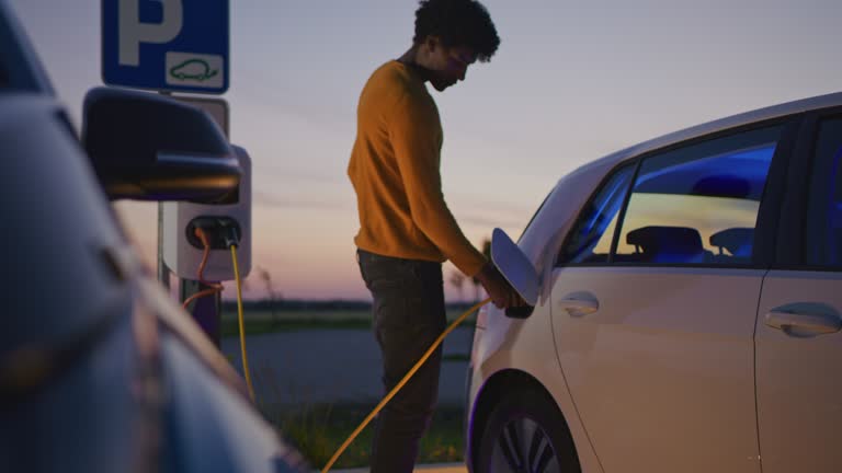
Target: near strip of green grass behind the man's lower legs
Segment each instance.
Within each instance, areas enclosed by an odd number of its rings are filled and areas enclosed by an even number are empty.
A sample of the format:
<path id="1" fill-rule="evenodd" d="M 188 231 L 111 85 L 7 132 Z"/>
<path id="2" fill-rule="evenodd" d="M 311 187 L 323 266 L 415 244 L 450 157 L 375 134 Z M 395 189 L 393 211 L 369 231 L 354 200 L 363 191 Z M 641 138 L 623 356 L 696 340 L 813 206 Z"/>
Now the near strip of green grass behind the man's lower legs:
<path id="1" fill-rule="evenodd" d="M 374 404 L 317 404 L 295 409 L 266 408 L 264 415 L 314 468 L 322 468 L 373 408 Z M 436 408 L 430 429 L 421 439 L 419 463 L 463 461 L 464 413 L 462 406 Z M 349 446 L 337 461 L 335 469 L 369 464 L 376 422 L 373 420 Z"/>

